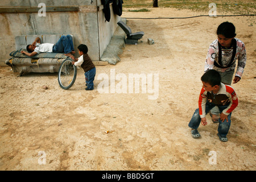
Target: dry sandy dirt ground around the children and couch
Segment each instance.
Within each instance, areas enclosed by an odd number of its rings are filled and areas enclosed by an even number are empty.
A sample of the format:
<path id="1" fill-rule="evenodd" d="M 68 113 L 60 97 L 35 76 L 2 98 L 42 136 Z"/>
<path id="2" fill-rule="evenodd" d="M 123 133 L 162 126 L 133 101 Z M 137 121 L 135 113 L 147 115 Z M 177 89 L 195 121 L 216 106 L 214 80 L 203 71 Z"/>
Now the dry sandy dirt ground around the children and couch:
<path id="1" fill-rule="evenodd" d="M 122 17 L 200 14 L 208 13 L 156 8 L 123 11 Z M 201 138 L 193 139 L 188 123 L 198 107 L 205 57 L 226 20 L 247 50 L 245 72 L 233 84 L 240 104 L 232 113 L 228 142 L 218 139 L 218 124 L 209 115 L 208 125 L 199 127 Z M 142 41 L 126 44 L 116 65 L 96 67 L 92 91 L 85 90 L 82 69 L 64 90 L 57 73 L 19 77 L 10 67 L 0 68 L 0 169 L 255 170 L 255 17 L 127 19 L 127 24 L 133 32 L 144 31 Z M 139 93 L 129 93 L 131 73 L 144 74 L 154 92 L 141 83 Z M 109 77 L 103 93 L 102 76 Z M 123 88 L 127 93 L 119 93 Z"/>

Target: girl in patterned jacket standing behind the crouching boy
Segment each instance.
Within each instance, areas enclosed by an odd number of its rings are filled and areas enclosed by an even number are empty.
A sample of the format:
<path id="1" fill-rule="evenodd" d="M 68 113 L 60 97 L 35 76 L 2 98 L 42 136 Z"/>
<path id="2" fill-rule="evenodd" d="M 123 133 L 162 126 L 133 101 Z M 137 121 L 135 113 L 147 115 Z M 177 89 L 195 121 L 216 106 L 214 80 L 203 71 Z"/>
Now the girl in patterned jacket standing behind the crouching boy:
<path id="1" fill-rule="evenodd" d="M 229 85 L 232 84 L 236 60 L 238 60 L 238 63 L 233 84 L 241 80 L 246 64 L 245 44 L 235 36 L 236 27 L 233 23 L 221 23 L 217 28 L 217 39 L 210 44 L 204 65 L 204 72 L 215 69 L 221 75 L 221 82 Z M 210 115 L 213 122 L 218 122 L 220 113 L 217 107 L 210 110 Z"/>

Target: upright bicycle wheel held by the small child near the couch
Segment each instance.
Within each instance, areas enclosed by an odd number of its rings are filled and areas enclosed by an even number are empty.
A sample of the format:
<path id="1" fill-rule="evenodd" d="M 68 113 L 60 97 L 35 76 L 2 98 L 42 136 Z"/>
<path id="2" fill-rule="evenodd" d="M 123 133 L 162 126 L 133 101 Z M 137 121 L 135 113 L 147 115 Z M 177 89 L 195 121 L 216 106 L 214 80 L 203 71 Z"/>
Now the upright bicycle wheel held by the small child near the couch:
<path id="1" fill-rule="evenodd" d="M 59 69 L 58 81 L 61 88 L 67 90 L 76 81 L 76 66 L 72 64 L 71 58 L 65 59 Z"/>

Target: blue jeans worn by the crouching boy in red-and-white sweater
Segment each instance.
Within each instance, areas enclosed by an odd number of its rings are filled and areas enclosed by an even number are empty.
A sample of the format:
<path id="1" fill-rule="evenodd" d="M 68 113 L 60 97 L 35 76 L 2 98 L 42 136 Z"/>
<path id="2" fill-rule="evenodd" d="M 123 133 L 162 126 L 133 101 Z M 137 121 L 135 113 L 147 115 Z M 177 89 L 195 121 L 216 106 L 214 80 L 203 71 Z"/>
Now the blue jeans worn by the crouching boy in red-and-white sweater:
<path id="1" fill-rule="evenodd" d="M 209 101 L 207 101 L 207 103 L 205 104 L 205 113 L 209 113 L 209 111 L 216 105 L 210 103 Z M 218 110 L 220 110 L 220 113 L 222 113 L 222 110 L 226 109 L 229 105 L 223 105 L 223 106 L 218 106 Z M 226 135 L 229 132 L 229 127 L 230 127 L 230 117 L 231 117 L 230 113 L 228 115 L 228 122 L 226 122 L 226 120 L 224 122 L 222 122 L 220 119 L 218 119 L 218 133 L 221 135 L 221 137 L 226 137 Z M 188 126 L 191 127 L 192 129 L 198 129 L 199 125 L 201 123 L 201 118 L 199 115 L 199 109 L 196 109 L 195 113 L 193 114 L 191 121 L 188 123 Z"/>

